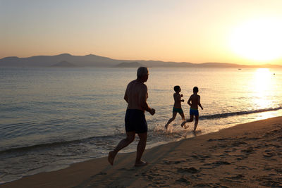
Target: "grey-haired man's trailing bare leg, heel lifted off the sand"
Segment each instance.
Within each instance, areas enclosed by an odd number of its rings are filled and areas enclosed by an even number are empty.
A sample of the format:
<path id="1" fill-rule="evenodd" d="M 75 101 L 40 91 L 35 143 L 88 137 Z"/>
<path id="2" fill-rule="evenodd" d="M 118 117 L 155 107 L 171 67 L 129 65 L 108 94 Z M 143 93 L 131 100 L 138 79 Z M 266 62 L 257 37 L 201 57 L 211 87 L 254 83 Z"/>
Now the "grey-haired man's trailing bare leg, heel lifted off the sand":
<path id="1" fill-rule="evenodd" d="M 133 132 L 126 132 L 126 138 L 122 139 L 121 142 L 118 143 L 116 148 L 113 151 L 109 152 L 108 161 L 111 165 L 114 164 L 114 158 L 116 157 L 116 154 L 118 153 L 118 151 L 120 151 L 121 149 L 128 146 L 131 142 L 133 142 L 134 139 L 135 139 L 135 132 L 134 131 Z"/>

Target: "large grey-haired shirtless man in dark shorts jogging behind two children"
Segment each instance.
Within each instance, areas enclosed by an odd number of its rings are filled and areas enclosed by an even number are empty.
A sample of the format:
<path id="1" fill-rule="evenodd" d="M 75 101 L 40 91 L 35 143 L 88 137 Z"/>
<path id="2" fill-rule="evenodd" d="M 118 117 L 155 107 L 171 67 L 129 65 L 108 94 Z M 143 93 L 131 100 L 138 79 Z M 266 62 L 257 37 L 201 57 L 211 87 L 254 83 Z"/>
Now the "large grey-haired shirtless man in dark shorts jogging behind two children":
<path id="1" fill-rule="evenodd" d="M 147 104 L 147 82 L 149 70 L 145 67 L 140 67 L 137 70 L 137 79 L 131 81 L 125 90 L 124 99 L 128 103 L 128 108 L 125 113 L 125 132 L 126 138 L 118 143 L 113 151 L 109 152 L 108 161 L 111 165 L 114 164 L 114 158 L 118 151 L 128 146 L 135 139 L 135 134 L 140 138 L 137 145 L 137 153 L 135 166 L 147 165 L 145 161 L 141 161 L 142 153 L 145 150 L 147 142 L 147 122 L 145 119 L 145 111 L 154 115 L 154 108 L 150 108 Z"/>

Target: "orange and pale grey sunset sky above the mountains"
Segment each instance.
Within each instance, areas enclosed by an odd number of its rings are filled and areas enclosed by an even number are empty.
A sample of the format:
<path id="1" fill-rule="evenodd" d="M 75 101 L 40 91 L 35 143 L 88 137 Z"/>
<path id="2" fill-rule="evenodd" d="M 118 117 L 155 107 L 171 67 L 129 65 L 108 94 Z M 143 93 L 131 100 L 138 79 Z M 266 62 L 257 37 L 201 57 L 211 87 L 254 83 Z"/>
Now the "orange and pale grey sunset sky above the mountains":
<path id="1" fill-rule="evenodd" d="M 0 58 L 282 65 L 281 0 L 0 0 Z"/>

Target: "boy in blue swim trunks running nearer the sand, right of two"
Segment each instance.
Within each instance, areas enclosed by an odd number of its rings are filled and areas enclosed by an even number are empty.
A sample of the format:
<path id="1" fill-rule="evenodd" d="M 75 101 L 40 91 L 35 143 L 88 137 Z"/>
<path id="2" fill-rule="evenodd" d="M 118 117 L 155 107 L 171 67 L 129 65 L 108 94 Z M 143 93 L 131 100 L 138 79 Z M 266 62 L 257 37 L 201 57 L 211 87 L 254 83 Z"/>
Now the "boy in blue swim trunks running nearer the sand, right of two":
<path id="1" fill-rule="evenodd" d="M 190 120 L 185 120 L 183 121 L 183 123 L 181 123 L 181 126 L 183 127 L 185 125 L 185 123 L 188 122 L 192 122 L 193 121 L 193 117 L 195 116 L 195 126 L 194 126 L 194 132 L 196 132 L 196 128 L 198 125 L 198 121 L 199 121 L 199 111 L 198 111 L 198 106 L 200 106 L 202 108 L 201 102 L 200 102 L 200 95 L 198 95 L 197 93 L 199 92 L 198 87 L 194 87 L 193 88 L 193 93 L 189 100 L 188 100 L 188 104 L 190 106 Z M 203 110 L 204 108 L 202 108 Z"/>

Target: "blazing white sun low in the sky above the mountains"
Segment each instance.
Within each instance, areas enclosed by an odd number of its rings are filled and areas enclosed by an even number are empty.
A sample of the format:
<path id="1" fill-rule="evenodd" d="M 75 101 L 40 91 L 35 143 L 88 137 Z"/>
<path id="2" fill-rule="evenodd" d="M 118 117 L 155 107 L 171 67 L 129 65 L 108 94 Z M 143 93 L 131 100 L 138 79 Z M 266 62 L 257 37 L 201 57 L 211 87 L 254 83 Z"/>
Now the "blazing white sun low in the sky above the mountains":
<path id="1" fill-rule="evenodd" d="M 230 37 L 231 49 L 254 61 L 272 61 L 282 56 L 282 20 L 262 18 L 238 25 Z"/>

